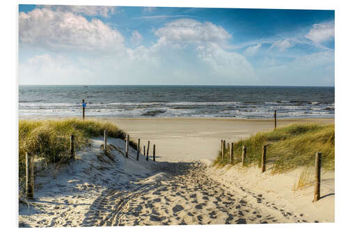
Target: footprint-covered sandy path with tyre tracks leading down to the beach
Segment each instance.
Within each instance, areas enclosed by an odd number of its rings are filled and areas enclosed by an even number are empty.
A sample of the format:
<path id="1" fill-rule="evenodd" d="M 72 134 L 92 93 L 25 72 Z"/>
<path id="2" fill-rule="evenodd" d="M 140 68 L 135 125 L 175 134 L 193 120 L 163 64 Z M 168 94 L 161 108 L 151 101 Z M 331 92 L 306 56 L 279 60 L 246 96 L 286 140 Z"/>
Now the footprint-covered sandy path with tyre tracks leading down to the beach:
<path id="1" fill-rule="evenodd" d="M 159 171 L 165 170 L 165 178 L 150 183 L 145 179 L 137 183 L 136 188 L 123 192 L 107 190 L 88 212 L 98 216 L 88 219 L 86 225 L 302 222 L 300 215 L 264 202 L 262 195 L 228 190 L 209 178 L 205 169 L 205 164 L 199 162 L 164 164 Z M 249 202 L 244 195 L 251 195 L 255 200 Z"/>

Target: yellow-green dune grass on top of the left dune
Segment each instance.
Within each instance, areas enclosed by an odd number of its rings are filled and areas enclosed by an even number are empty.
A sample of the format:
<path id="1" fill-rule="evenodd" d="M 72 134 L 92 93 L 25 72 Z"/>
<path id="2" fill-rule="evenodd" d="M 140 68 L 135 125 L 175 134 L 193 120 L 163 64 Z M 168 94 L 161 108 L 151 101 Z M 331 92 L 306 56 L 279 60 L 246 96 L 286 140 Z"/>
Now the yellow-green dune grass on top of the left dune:
<path id="1" fill-rule="evenodd" d="M 70 135 L 74 134 L 75 150 L 89 143 L 92 137 L 104 135 L 125 139 L 126 134 L 113 123 L 94 120 L 82 121 L 77 118 L 46 121 L 19 121 L 19 180 L 25 174 L 25 153 L 31 152 L 48 163 L 65 162 L 70 148 Z M 134 141 L 129 146 L 136 148 Z"/>

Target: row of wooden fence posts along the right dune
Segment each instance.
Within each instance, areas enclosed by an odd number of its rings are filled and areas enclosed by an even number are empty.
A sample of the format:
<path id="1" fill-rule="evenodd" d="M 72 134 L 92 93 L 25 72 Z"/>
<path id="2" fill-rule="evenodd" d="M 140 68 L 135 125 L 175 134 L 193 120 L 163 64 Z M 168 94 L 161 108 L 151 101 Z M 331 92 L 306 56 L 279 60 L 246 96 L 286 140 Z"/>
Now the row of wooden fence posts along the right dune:
<path id="1" fill-rule="evenodd" d="M 230 156 L 230 164 L 234 162 L 233 154 L 233 143 L 227 144 L 228 155 Z M 221 139 L 221 157 L 225 160 L 227 154 L 226 150 L 226 140 Z M 262 146 L 261 155 L 261 173 L 266 171 L 266 157 L 267 157 L 267 145 Z M 246 162 L 246 146 L 242 146 L 242 165 L 244 166 Z M 320 199 L 320 179 L 321 179 L 321 168 L 322 168 L 322 153 L 315 153 L 315 190 L 314 190 L 314 200 L 319 201 Z"/>

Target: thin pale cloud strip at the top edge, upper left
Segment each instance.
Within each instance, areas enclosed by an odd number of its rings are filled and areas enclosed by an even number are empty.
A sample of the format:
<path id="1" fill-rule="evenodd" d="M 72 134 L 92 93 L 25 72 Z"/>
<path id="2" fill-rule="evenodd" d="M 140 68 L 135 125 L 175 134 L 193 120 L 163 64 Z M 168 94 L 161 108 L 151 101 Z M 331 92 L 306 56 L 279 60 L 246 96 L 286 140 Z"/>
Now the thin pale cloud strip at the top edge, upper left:
<path id="1" fill-rule="evenodd" d="M 42 8 L 48 8 L 51 10 L 61 11 L 61 12 L 71 12 L 71 13 L 77 13 L 77 14 L 83 14 L 83 15 L 90 15 L 90 16 L 103 16 L 103 17 L 109 17 L 110 15 L 113 15 L 116 13 L 116 6 L 50 6 L 50 5 L 44 5 L 40 6 Z"/>

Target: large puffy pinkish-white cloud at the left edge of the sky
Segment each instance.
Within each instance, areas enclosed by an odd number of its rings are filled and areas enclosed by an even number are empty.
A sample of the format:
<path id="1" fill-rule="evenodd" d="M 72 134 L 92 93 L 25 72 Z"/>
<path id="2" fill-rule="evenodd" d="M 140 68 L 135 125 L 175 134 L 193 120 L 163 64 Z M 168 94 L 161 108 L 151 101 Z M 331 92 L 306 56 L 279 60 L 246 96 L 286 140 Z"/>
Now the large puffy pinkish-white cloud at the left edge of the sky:
<path id="1" fill-rule="evenodd" d="M 112 50 L 123 48 L 123 37 L 102 21 L 81 15 L 35 8 L 19 13 L 19 43 L 54 49 Z"/>

